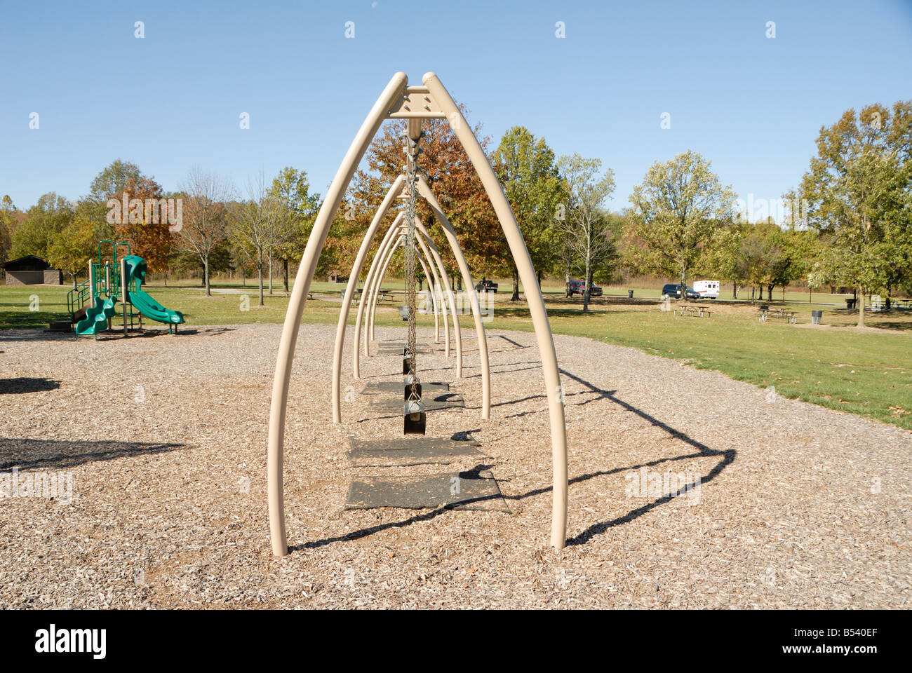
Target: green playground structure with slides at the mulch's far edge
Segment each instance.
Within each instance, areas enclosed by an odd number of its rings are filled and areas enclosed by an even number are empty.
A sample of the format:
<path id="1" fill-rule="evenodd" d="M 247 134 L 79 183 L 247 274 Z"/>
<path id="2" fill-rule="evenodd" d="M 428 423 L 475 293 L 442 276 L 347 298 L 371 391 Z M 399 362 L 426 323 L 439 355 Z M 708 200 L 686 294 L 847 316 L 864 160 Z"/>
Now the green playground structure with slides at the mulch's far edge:
<path id="1" fill-rule="evenodd" d="M 105 243 L 110 244 L 109 256 L 103 251 Z M 118 259 L 118 250 L 123 247 L 127 249 L 127 254 Z M 99 242 L 98 261 L 88 262 L 88 278 L 67 293 L 67 311 L 71 321 L 76 323 L 78 336 L 98 338 L 99 331 L 110 329 L 111 318 L 118 312 L 118 302 L 124 336 L 134 328 L 134 317 L 137 318 L 138 329 L 142 330 L 143 316 L 166 324 L 169 334 L 171 329 L 176 333 L 177 326 L 184 322 L 183 314 L 165 308 L 145 292 L 142 289 L 145 279 L 146 260 L 130 254 L 130 243 Z"/>

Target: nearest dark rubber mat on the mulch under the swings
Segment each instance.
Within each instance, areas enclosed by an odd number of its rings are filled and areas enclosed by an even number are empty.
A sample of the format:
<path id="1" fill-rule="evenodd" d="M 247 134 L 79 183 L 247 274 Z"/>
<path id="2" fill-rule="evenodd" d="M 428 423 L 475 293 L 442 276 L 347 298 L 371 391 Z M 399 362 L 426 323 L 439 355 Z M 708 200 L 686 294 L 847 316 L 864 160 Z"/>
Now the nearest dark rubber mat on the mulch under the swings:
<path id="1" fill-rule="evenodd" d="M 490 471 L 444 472 L 423 477 L 356 477 L 348 487 L 345 508 L 378 507 L 510 512 Z"/>

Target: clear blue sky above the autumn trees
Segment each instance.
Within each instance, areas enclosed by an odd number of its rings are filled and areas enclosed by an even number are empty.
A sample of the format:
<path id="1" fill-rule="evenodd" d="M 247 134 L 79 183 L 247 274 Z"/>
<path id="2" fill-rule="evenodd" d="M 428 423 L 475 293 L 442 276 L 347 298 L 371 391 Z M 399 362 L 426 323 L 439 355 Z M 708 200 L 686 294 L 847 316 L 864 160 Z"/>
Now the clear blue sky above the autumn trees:
<path id="1" fill-rule="evenodd" d="M 779 198 L 823 124 L 912 98 L 912 3 L 3 0 L 0 57 L 0 194 L 22 209 L 77 199 L 118 157 L 166 190 L 193 164 L 239 187 L 290 165 L 325 193 L 397 70 L 437 72 L 495 144 L 521 124 L 602 159 L 620 209 L 684 150 L 742 198 Z"/>

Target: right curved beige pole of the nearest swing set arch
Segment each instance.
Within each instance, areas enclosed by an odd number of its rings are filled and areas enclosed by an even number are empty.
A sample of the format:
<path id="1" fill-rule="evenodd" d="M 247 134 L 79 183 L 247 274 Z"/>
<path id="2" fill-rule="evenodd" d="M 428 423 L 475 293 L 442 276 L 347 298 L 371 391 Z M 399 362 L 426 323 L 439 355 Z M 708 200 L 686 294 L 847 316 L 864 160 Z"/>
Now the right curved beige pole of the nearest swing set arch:
<path id="1" fill-rule="evenodd" d="M 440 79 L 432 72 L 426 73 L 421 81 L 430 91 L 430 95 L 443 110 L 450 120 L 451 129 L 462 143 L 475 172 L 482 180 L 485 192 L 501 222 L 503 234 L 510 245 L 513 262 L 519 270 L 520 281 L 525 289 L 525 300 L 529 305 L 529 313 L 535 328 L 535 340 L 542 357 L 542 373 L 544 374 L 545 394 L 548 399 L 548 417 L 551 425 L 551 455 L 554 491 L 552 492 L 551 509 L 551 544 L 555 549 L 563 549 L 566 542 L 567 520 L 567 449 L 566 426 L 564 418 L 564 401 L 561 388 L 560 369 L 557 367 L 557 354 L 554 351 L 554 337 L 551 335 L 551 325 L 548 322 L 548 312 L 544 308 L 544 298 L 538 286 L 535 269 L 529 251 L 523 241 L 523 233 L 513 217 L 510 202 L 503 193 L 503 187 L 497 180 L 497 175 L 491 167 L 487 156 L 482 150 L 478 139 L 472 133 L 456 103 Z"/>

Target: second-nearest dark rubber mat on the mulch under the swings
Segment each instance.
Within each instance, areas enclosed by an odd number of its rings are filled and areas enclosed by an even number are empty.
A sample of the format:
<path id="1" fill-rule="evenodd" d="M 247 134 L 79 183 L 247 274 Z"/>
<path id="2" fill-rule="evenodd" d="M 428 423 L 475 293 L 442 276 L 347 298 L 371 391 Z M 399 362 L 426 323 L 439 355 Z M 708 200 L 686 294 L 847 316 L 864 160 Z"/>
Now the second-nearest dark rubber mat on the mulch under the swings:
<path id="1" fill-rule="evenodd" d="M 405 437 L 396 440 L 358 440 L 348 437 L 346 457 L 355 467 L 402 467 L 406 465 L 449 465 L 461 458 L 481 460 L 475 440 L 447 437 Z"/>

